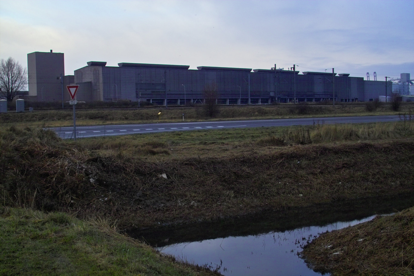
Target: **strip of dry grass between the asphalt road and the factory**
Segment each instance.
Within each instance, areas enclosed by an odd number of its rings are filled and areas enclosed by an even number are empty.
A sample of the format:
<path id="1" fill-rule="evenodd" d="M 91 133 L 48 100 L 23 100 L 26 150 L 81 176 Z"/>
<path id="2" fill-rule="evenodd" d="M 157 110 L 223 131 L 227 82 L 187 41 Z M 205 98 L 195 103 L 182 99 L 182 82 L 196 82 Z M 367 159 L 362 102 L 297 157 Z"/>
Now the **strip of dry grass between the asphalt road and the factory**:
<path id="1" fill-rule="evenodd" d="M 161 117 L 158 113 L 161 112 Z M 180 108 L 142 108 L 142 109 L 105 109 L 76 110 L 77 125 L 113 125 L 149 122 L 178 122 L 200 120 L 246 120 L 274 118 L 306 118 L 325 116 L 358 116 L 358 115 L 398 115 L 413 114 L 413 106 L 402 104 L 399 112 L 392 111 L 389 106 L 380 105 L 373 111 L 367 111 L 364 105 L 326 105 L 313 104 L 279 105 L 279 106 L 223 106 L 214 118 L 206 117 L 202 106 Z M 35 110 L 25 113 L 1 113 L 0 124 L 6 126 L 61 127 L 73 125 L 71 109 Z"/>

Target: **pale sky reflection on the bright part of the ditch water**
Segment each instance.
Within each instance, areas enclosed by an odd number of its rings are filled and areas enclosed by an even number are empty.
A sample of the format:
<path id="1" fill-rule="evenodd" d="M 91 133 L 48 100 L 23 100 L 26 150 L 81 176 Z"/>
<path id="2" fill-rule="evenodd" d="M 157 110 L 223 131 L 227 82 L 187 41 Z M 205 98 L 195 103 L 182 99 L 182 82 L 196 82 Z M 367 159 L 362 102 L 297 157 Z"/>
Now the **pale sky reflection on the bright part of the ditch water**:
<path id="1" fill-rule="evenodd" d="M 327 226 L 297 228 L 285 232 L 270 232 L 244 237 L 227 237 L 200 242 L 187 242 L 158 248 L 163 253 L 172 254 L 180 259 L 199 265 L 220 265 L 224 275 L 320 275 L 308 269 L 305 262 L 297 256 L 301 251 L 296 240 L 318 235 L 326 231 L 341 229 L 374 216 L 351 222 L 336 222 Z M 226 271 L 224 271 L 226 269 Z"/>

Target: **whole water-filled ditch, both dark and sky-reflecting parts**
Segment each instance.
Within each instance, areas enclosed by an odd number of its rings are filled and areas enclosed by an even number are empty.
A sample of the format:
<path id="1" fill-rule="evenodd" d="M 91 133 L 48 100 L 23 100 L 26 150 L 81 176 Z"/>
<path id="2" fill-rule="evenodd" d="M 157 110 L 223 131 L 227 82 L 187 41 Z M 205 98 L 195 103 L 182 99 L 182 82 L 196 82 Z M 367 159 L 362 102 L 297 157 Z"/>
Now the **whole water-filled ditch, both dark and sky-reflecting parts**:
<path id="1" fill-rule="evenodd" d="M 321 275 L 298 257 L 319 233 L 414 206 L 414 194 L 263 212 L 214 222 L 130 231 L 160 252 L 223 275 Z"/>

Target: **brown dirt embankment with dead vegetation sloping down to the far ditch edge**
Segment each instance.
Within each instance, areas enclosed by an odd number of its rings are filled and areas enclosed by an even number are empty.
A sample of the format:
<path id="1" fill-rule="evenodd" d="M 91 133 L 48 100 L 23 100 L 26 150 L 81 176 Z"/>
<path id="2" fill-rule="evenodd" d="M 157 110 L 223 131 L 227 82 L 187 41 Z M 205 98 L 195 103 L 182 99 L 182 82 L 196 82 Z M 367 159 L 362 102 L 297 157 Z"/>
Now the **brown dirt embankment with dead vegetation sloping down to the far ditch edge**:
<path id="1" fill-rule="evenodd" d="M 157 162 L 91 154 L 43 130 L 11 128 L 1 139 L 5 205 L 101 216 L 125 227 L 414 191 L 412 140 Z"/>

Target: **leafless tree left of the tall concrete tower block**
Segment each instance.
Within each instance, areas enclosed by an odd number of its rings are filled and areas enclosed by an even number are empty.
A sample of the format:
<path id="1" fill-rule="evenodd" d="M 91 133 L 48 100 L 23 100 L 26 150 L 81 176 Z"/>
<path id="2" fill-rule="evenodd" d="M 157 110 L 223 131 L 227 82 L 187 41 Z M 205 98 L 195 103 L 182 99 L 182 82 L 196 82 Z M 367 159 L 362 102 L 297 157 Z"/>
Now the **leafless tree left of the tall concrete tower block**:
<path id="1" fill-rule="evenodd" d="M 27 84 L 27 70 L 14 58 L 2 59 L 0 63 L 0 98 L 13 101 L 17 91 Z"/>

